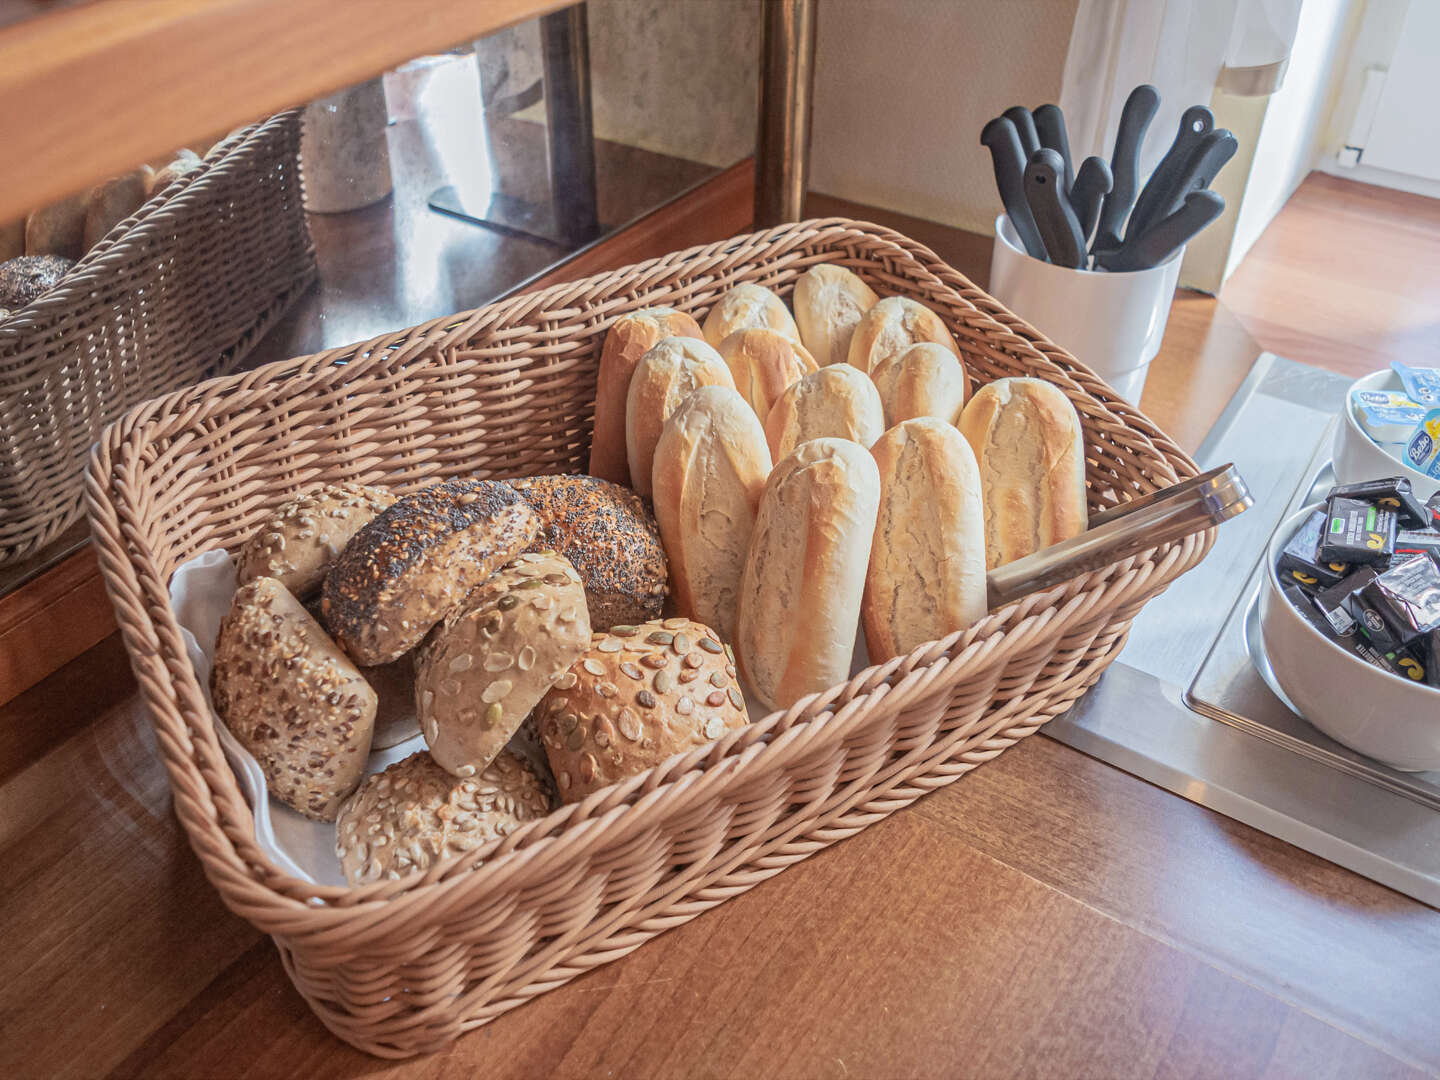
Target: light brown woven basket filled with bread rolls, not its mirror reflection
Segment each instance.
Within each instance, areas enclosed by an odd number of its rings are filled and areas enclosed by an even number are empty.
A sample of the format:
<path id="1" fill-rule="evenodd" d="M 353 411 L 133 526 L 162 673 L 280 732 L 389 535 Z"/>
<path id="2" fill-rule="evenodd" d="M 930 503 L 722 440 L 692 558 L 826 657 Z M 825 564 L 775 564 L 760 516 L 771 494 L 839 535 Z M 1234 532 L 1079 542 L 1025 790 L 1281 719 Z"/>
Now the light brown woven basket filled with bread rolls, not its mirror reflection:
<path id="1" fill-rule="evenodd" d="M 344 890 L 269 864 L 170 611 L 176 566 L 236 544 L 321 481 L 412 490 L 579 472 L 609 323 L 652 304 L 703 315 L 740 281 L 789 294 L 816 262 L 940 312 L 979 382 L 1060 386 L 1084 423 L 1093 508 L 1194 474 L 1149 420 L 930 251 L 837 219 L 213 380 L 134 409 L 98 445 L 95 544 L 176 812 L 225 901 L 275 937 L 347 1043 L 436 1050 L 959 779 L 1068 708 L 1140 606 L 1210 549 L 1212 533 L 1197 534 L 1028 596 L 422 876 Z"/>

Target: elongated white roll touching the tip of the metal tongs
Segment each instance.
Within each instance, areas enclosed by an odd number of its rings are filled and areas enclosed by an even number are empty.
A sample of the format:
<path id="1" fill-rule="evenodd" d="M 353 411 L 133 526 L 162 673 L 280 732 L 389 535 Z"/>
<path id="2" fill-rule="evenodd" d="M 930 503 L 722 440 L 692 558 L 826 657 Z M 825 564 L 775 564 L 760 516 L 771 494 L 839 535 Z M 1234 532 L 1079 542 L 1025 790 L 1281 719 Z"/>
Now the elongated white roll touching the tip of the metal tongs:
<path id="1" fill-rule="evenodd" d="M 985 505 L 975 454 L 952 423 L 906 420 L 871 452 L 880 511 L 861 619 L 881 664 L 985 616 Z"/>

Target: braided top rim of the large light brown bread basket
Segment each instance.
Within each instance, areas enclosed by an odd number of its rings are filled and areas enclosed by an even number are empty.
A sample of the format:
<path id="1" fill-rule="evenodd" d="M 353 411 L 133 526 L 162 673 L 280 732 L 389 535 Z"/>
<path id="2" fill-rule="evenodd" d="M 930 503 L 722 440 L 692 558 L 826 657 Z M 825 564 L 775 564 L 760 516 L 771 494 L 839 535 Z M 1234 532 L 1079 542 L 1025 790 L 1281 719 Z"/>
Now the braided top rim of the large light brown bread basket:
<path id="1" fill-rule="evenodd" d="M 1061 383 L 1061 389 L 1071 400 L 1079 397 L 1077 408 L 1083 402 L 1087 409 L 1081 409 L 1081 412 L 1087 412 L 1092 420 L 1123 428 L 1129 435 L 1138 436 L 1149 445 L 1156 459 L 1159 481 L 1174 482 L 1178 475 L 1194 475 L 1197 471 L 1188 455 L 1143 413 L 1119 399 L 1090 369 L 1007 311 L 998 301 L 948 266 L 935 252 L 890 229 L 842 217 L 814 219 L 710 245 L 698 245 L 579 281 L 560 282 L 536 292 L 518 294 L 467 312 L 429 320 L 369 341 L 274 361 L 240 374 L 210 379 L 141 403 L 111 423 L 92 452 L 86 475 L 86 503 L 96 552 L 101 557 L 107 589 L 111 592 L 117 609 L 117 619 L 125 634 L 127 649 L 135 667 L 141 694 L 147 704 L 173 706 L 181 726 L 192 724 L 189 732 L 161 730 L 161 720 L 166 719 L 168 723 L 168 719 L 161 717 L 154 707 L 151 708 L 157 732 L 161 736 L 161 749 L 167 753 L 167 763 L 171 760 L 183 762 L 187 770 L 193 770 L 194 775 L 189 776 L 187 773 L 186 782 L 203 788 L 217 809 L 222 808 L 222 802 L 233 804 L 238 801 L 243 809 L 242 824 L 249 816 L 249 808 L 239 795 L 235 778 L 229 773 L 223 756 L 219 756 L 210 711 L 204 706 L 194 672 L 179 644 L 174 613 L 168 606 L 167 582 L 160 579 L 154 552 L 145 543 L 141 528 L 143 514 L 137 517 L 134 507 L 128 505 L 125 494 L 128 482 L 121 480 L 111 464 L 118 467 L 121 461 L 125 461 L 134 474 L 140 455 L 137 454 L 127 461 L 127 448 L 138 451 L 144 446 L 153 428 L 161 425 L 167 416 L 183 416 L 187 422 L 194 422 L 210 412 L 233 408 L 235 395 L 255 390 L 262 384 L 274 389 L 275 383 L 285 380 L 294 383 L 289 387 L 292 392 L 302 392 L 312 377 L 321 380 L 327 374 L 334 377 L 340 369 L 337 361 L 347 361 L 346 367 L 350 367 L 350 361 L 356 361 L 357 357 L 374 357 L 395 348 L 422 351 L 441 347 L 446 340 L 458 340 L 471 334 L 491 317 L 503 318 L 505 323 L 518 323 L 533 311 L 553 308 L 564 311 L 576 307 L 569 301 L 573 301 L 579 294 L 613 284 L 621 278 L 638 282 L 639 288 L 635 288 L 634 292 L 644 295 L 647 292 L 644 279 L 657 269 L 674 268 L 680 262 L 697 259 L 719 258 L 723 261 L 727 253 L 752 253 L 757 248 L 775 248 L 776 253 L 780 253 L 785 248 L 799 243 L 804 235 L 815 230 L 838 230 L 857 239 L 865 238 L 891 245 L 897 249 L 899 256 L 913 264 L 913 266 L 906 266 L 907 271 L 919 269 L 924 275 L 926 284 L 952 292 L 973 312 L 960 321 L 991 334 L 996 330 L 1002 331 L 1002 341 L 1018 350 L 1028 361 L 1034 361 L 1041 369 L 1037 374 Z M 838 242 L 840 238 L 835 239 Z M 834 255 L 834 252 L 831 253 Z M 814 261 L 842 262 L 842 259 L 835 258 L 815 258 Z M 750 268 L 755 264 L 753 261 L 740 261 L 734 265 Z M 724 279 L 726 274 L 721 272 L 714 278 L 697 281 L 708 282 L 719 289 L 724 287 Z M 589 305 L 586 312 L 599 315 L 595 325 L 602 330 L 612 321 L 612 317 L 644 305 L 642 300 L 616 298 L 611 302 Z M 363 373 L 364 364 L 354 366 Z M 346 373 L 344 369 L 340 369 L 340 374 Z M 131 475 L 127 480 L 132 478 L 135 477 Z M 1156 482 L 1156 487 L 1159 485 Z M 252 838 L 249 850 L 242 852 L 229 829 L 220 824 L 219 815 L 210 815 L 203 822 L 192 822 L 181 816 L 181 822 L 192 844 L 202 855 L 206 873 L 226 900 L 238 904 L 242 914 L 269 932 L 295 935 L 320 930 L 321 926 L 333 926 L 334 919 L 364 919 L 369 917 L 367 912 L 389 912 L 396 904 L 423 903 L 426 897 L 438 894 L 446 887 L 454 887 L 458 881 L 468 880 L 482 870 L 501 876 L 505 873 L 505 867 L 516 867 L 524 852 L 537 852 L 539 858 L 541 845 L 544 850 L 562 847 L 560 841 L 564 840 L 566 832 L 575 831 L 576 819 L 596 822 L 606 819 L 606 815 L 622 816 L 626 811 L 634 812 L 641 804 L 665 798 L 667 792 L 681 791 L 683 785 L 700 783 L 701 780 L 696 778 L 707 775 L 719 778 L 721 770 L 713 766 L 740 760 L 744 755 L 760 756 L 772 737 L 783 737 L 795 730 L 819 732 L 821 734 L 814 737 L 825 737 L 825 723 L 838 714 L 827 711 L 827 707 L 837 701 L 841 711 L 854 704 L 854 713 L 861 713 L 864 711 L 863 704 L 877 704 L 901 690 L 912 693 L 913 687 L 922 683 L 930 687 L 940 678 L 940 674 L 936 672 L 950 672 L 956 680 L 962 674 L 973 674 L 978 670 L 973 667 L 973 660 L 976 655 L 984 655 L 985 649 L 989 651 L 989 662 L 999 662 L 1004 658 L 1012 658 L 1021 645 L 1028 649 L 1041 648 L 1050 636 L 1058 636 L 1067 625 L 1066 619 L 1056 612 L 1064 612 L 1070 608 L 1107 611 L 1120 605 L 1130 595 L 1153 595 L 1172 577 L 1204 557 L 1212 541 L 1214 530 L 1207 530 L 1182 541 L 1113 563 L 1056 589 L 1034 593 L 1014 605 L 1001 608 L 965 632 L 956 632 L 939 642 L 929 642 L 912 654 L 886 664 L 863 668 L 851 680 L 805 698 L 789 710 L 776 710 L 746 729 L 721 737 L 717 743 L 678 755 L 645 773 L 596 792 L 579 804 L 562 806 L 507 838 L 452 855 L 436 863 L 423 874 L 412 874 L 399 881 L 380 881 L 354 888 L 317 886 L 288 877 L 274 867 L 253 844 L 253 825 L 249 829 Z M 1011 648 L 1005 648 L 1007 641 L 1012 642 Z M 193 727 L 196 720 L 199 720 L 199 730 Z M 194 736 L 199 736 L 199 742 L 194 742 Z M 187 742 L 189 744 L 186 744 Z M 177 768 L 181 766 L 177 765 Z M 171 785 L 176 786 L 180 783 L 180 778 L 176 769 L 170 772 Z M 719 783 L 720 779 L 710 782 Z M 233 805 L 225 808 L 233 811 Z M 547 841 L 553 842 L 547 844 Z M 484 867 L 477 867 L 478 861 L 484 861 Z M 239 891 L 249 896 L 238 897 L 232 891 L 235 886 L 240 886 Z M 253 894 L 255 890 L 264 893 L 264 906 L 261 897 Z"/>

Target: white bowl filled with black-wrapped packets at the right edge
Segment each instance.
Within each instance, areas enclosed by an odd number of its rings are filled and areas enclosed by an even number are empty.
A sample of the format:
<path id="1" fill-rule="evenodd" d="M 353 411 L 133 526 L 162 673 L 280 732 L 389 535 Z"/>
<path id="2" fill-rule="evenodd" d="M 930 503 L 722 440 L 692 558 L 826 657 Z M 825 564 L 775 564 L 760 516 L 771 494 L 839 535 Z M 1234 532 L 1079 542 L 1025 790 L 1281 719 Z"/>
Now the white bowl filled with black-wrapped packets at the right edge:
<path id="1" fill-rule="evenodd" d="M 1280 552 L 1320 505 L 1282 523 L 1266 552 L 1260 635 L 1274 678 L 1300 716 L 1335 742 L 1403 772 L 1440 769 L 1440 690 L 1367 664 L 1280 592 Z"/>

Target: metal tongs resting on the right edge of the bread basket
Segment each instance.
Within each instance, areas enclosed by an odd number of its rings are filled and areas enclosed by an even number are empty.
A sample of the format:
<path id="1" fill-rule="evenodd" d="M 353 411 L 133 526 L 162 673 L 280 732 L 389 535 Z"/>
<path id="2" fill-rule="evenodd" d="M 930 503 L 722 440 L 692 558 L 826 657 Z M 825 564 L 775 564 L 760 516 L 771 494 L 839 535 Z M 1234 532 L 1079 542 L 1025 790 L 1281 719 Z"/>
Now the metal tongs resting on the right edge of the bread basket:
<path id="1" fill-rule="evenodd" d="M 1250 488 L 1233 464 L 1122 503 L 1092 517 L 1090 527 L 1080 536 L 996 566 L 985 575 L 989 608 L 995 611 L 1089 570 L 1184 540 L 1253 505 Z"/>

